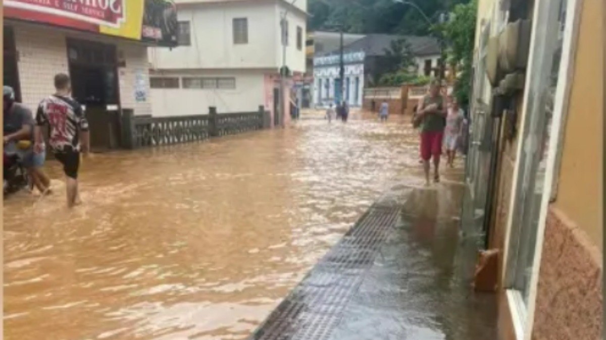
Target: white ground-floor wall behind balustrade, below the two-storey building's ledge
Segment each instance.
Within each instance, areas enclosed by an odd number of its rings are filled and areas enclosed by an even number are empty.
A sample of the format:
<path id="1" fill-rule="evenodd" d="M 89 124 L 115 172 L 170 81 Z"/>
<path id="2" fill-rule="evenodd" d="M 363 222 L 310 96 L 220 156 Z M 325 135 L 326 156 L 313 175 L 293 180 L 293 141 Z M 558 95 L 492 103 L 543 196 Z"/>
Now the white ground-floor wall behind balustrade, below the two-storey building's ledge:
<path id="1" fill-rule="evenodd" d="M 155 71 L 151 76 L 168 77 L 235 77 L 236 88 L 151 89 L 154 116 L 188 116 L 207 114 L 208 106 L 216 106 L 218 113 L 256 111 L 265 103 L 265 74 L 262 71 L 206 70 Z"/>

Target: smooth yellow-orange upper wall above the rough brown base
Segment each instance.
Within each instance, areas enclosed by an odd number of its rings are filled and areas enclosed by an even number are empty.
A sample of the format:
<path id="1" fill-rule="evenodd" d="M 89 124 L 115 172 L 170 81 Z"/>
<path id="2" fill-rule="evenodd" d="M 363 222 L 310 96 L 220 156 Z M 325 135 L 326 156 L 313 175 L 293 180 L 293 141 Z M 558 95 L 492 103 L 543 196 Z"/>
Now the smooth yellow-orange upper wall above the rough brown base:
<path id="1" fill-rule="evenodd" d="M 603 8 L 601 1 L 583 2 L 555 205 L 603 251 Z"/>

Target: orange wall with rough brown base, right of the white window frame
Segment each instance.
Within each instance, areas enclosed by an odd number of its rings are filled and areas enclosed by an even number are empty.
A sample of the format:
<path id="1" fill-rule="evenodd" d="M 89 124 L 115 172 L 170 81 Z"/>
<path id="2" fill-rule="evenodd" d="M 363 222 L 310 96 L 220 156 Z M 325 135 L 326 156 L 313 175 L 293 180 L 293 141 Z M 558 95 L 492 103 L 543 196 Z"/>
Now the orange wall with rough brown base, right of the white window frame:
<path id="1" fill-rule="evenodd" d="M 533 340 L 602 337 L 604 8 L 585 0 L 559 190 L 542 249 Z M 557 165 L 556 165 L 557 166 Z"/>

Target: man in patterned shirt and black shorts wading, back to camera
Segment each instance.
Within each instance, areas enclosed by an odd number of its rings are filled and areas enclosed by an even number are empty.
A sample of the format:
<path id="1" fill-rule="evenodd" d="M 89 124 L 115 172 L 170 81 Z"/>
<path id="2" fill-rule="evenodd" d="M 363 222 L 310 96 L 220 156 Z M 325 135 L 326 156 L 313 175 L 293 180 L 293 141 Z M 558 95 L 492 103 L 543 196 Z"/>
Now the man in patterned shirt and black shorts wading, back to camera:
<path id="1" fill-rule="evenodd" d="M 48 96 L 38 106 L 36 113 L 35 149 L 42 152 L 44 140 L 42 126 L 50 125 L 50 144 L 55 158 L 62 163 L 67 184 L 67 206 L 80 203 L 78 194 L 78 168 L 80 151 L 88 155 L 88 122 L 82 106 L 71 97 L 72 86 L 67 74 L 55 76 L 56 93 Z M 81 143 L 82 140 L 82 143 Z"/>

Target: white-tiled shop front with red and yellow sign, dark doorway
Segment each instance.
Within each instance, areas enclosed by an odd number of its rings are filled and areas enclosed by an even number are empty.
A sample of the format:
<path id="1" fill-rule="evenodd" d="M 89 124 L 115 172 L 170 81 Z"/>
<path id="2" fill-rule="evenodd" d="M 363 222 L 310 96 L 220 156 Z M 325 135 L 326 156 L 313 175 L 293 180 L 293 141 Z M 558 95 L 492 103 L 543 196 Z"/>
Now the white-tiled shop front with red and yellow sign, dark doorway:
<path id="1" fill-rule="evenodd" d="M 119 147 L 123 110 L 153 114 L 147 47 L 174 46 L 177 39 L 172 2 L 159 8 L 153 1 L 112 3 L 56 8 L 51 2 L 4 1 L 4 85 L 35 110 L 55 93 L 55 74 L 69 74 L 96 150 Z"/>

